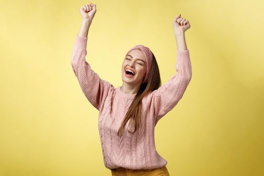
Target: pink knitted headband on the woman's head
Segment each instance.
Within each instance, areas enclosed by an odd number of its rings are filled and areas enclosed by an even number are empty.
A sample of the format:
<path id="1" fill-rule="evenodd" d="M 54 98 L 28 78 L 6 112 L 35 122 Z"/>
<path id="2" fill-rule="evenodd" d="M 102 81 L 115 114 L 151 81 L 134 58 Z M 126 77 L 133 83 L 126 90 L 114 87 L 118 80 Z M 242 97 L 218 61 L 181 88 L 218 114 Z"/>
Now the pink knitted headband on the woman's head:
<path id="1" fill-rule="evenodd" d="M 132 51 L 132 50 L 134 50 L 134 49 L 140 49 L 143 53 L 144 53 L 144 55 L 145 55 L 145 57 L 146 57 L 146 74 L 145 74 L 145 79 L 143 80 L 143 82 L 142 83 L 145 83 L 145 82 L 147 82 L 148 81 L 148 75 L 149 75 L 149 72 L 150 72 L 150 66 L 151 66 L 151 63 L 152 63 L 152 52 L 151 52 L 151 50 L 148 48 L 148 47 L 146 47 L 146 46 L 144 46 L 144 45 L 136 45 L 136 46 L 134 46 L 134 47 L 132 47 L 128 52 L 127 52 L 127 54 L 130 52 L 130 51 Z M 126 54 L 126 56 L 127 56 L 127 54 Z"/>

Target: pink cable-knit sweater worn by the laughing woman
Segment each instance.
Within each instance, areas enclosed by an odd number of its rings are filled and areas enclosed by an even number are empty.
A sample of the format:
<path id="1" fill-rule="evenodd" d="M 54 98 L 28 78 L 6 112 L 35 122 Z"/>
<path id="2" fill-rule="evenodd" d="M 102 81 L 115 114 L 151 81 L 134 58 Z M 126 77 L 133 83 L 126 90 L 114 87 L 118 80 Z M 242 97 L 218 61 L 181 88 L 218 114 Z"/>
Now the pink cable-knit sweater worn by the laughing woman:
<path id="1" fill-rule="evenodd" d="M 76 36 L 71 65 L 83 94 L 99 110 L 98 127 L 105 166 L 109 169 L 151 169 L 166 165 L 167 161 L 155 148 L 154 128 L 158 120 L 177 105 L 191 80 L 189 50 L 177 50 L 177 73 L 142 99 L 141 127 L 134 134 L 125 130 L 118 137 L 117 131 L 136 94 L 125 94 L 120 86 L 115 88 L 101 79 L 85 61 L 86 44 L 87 37 Z M 129 121 L 125 129 L 128 124 Z"/>

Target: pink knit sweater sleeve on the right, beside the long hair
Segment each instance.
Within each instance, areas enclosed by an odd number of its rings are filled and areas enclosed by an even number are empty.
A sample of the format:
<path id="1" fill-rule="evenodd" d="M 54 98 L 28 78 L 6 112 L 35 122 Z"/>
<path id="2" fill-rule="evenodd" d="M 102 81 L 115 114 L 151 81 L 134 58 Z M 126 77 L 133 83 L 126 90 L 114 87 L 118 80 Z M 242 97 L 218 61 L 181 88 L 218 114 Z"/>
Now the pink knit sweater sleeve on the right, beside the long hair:
<path id="1" fill-rule="evenodd" d="M 192 66 L 189 50 L 177 50 L 177 73 L 168 82 L 151 92 L 151 106 L 154 109 L 155 123 L 172 110 L 184 95 L 192 77 Z"/>

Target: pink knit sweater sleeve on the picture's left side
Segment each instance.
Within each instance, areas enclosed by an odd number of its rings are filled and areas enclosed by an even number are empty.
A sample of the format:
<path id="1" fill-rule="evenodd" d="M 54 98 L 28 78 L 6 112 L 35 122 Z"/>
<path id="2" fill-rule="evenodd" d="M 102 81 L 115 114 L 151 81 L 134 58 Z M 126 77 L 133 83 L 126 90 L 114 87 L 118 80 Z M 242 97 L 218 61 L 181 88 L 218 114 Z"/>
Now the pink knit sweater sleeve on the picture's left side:
<path id="1" fill-rule="evenodd" d="M 113 85 L 99 77 L 85 61 L 87 37 L 76 36 L 72 49 L 71 66 L 87 100 L 100 111 L 102 103 Z"/>

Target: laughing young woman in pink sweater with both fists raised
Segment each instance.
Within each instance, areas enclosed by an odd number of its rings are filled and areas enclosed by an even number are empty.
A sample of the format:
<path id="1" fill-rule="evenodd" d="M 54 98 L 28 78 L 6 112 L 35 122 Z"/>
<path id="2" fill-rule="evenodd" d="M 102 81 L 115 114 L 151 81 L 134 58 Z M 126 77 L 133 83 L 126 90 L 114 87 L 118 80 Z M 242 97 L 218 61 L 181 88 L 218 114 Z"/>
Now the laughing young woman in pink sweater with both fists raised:
<path id="1" fill-rule="evenodd" d="M 105 166 L 112 175 L 169 175 L 167 161 L 155 149 L 154 127 L 183 97 L 192 77 L 185 43 L 188 20 L 173 20 L 177 40 L 177 73 L 163 85 L 154 54 L 144 45 L 132 47 L 122 64 L 122 86 L 99 77 L 85 61 L 87 34 L 96 13 L 90 3 L 80 9 L 82 24 L 76 36 L 71 65 L 89 102 L 99 110 L 99 134 Z M 110 71 L 110 70 L 109 70 Z"/>

